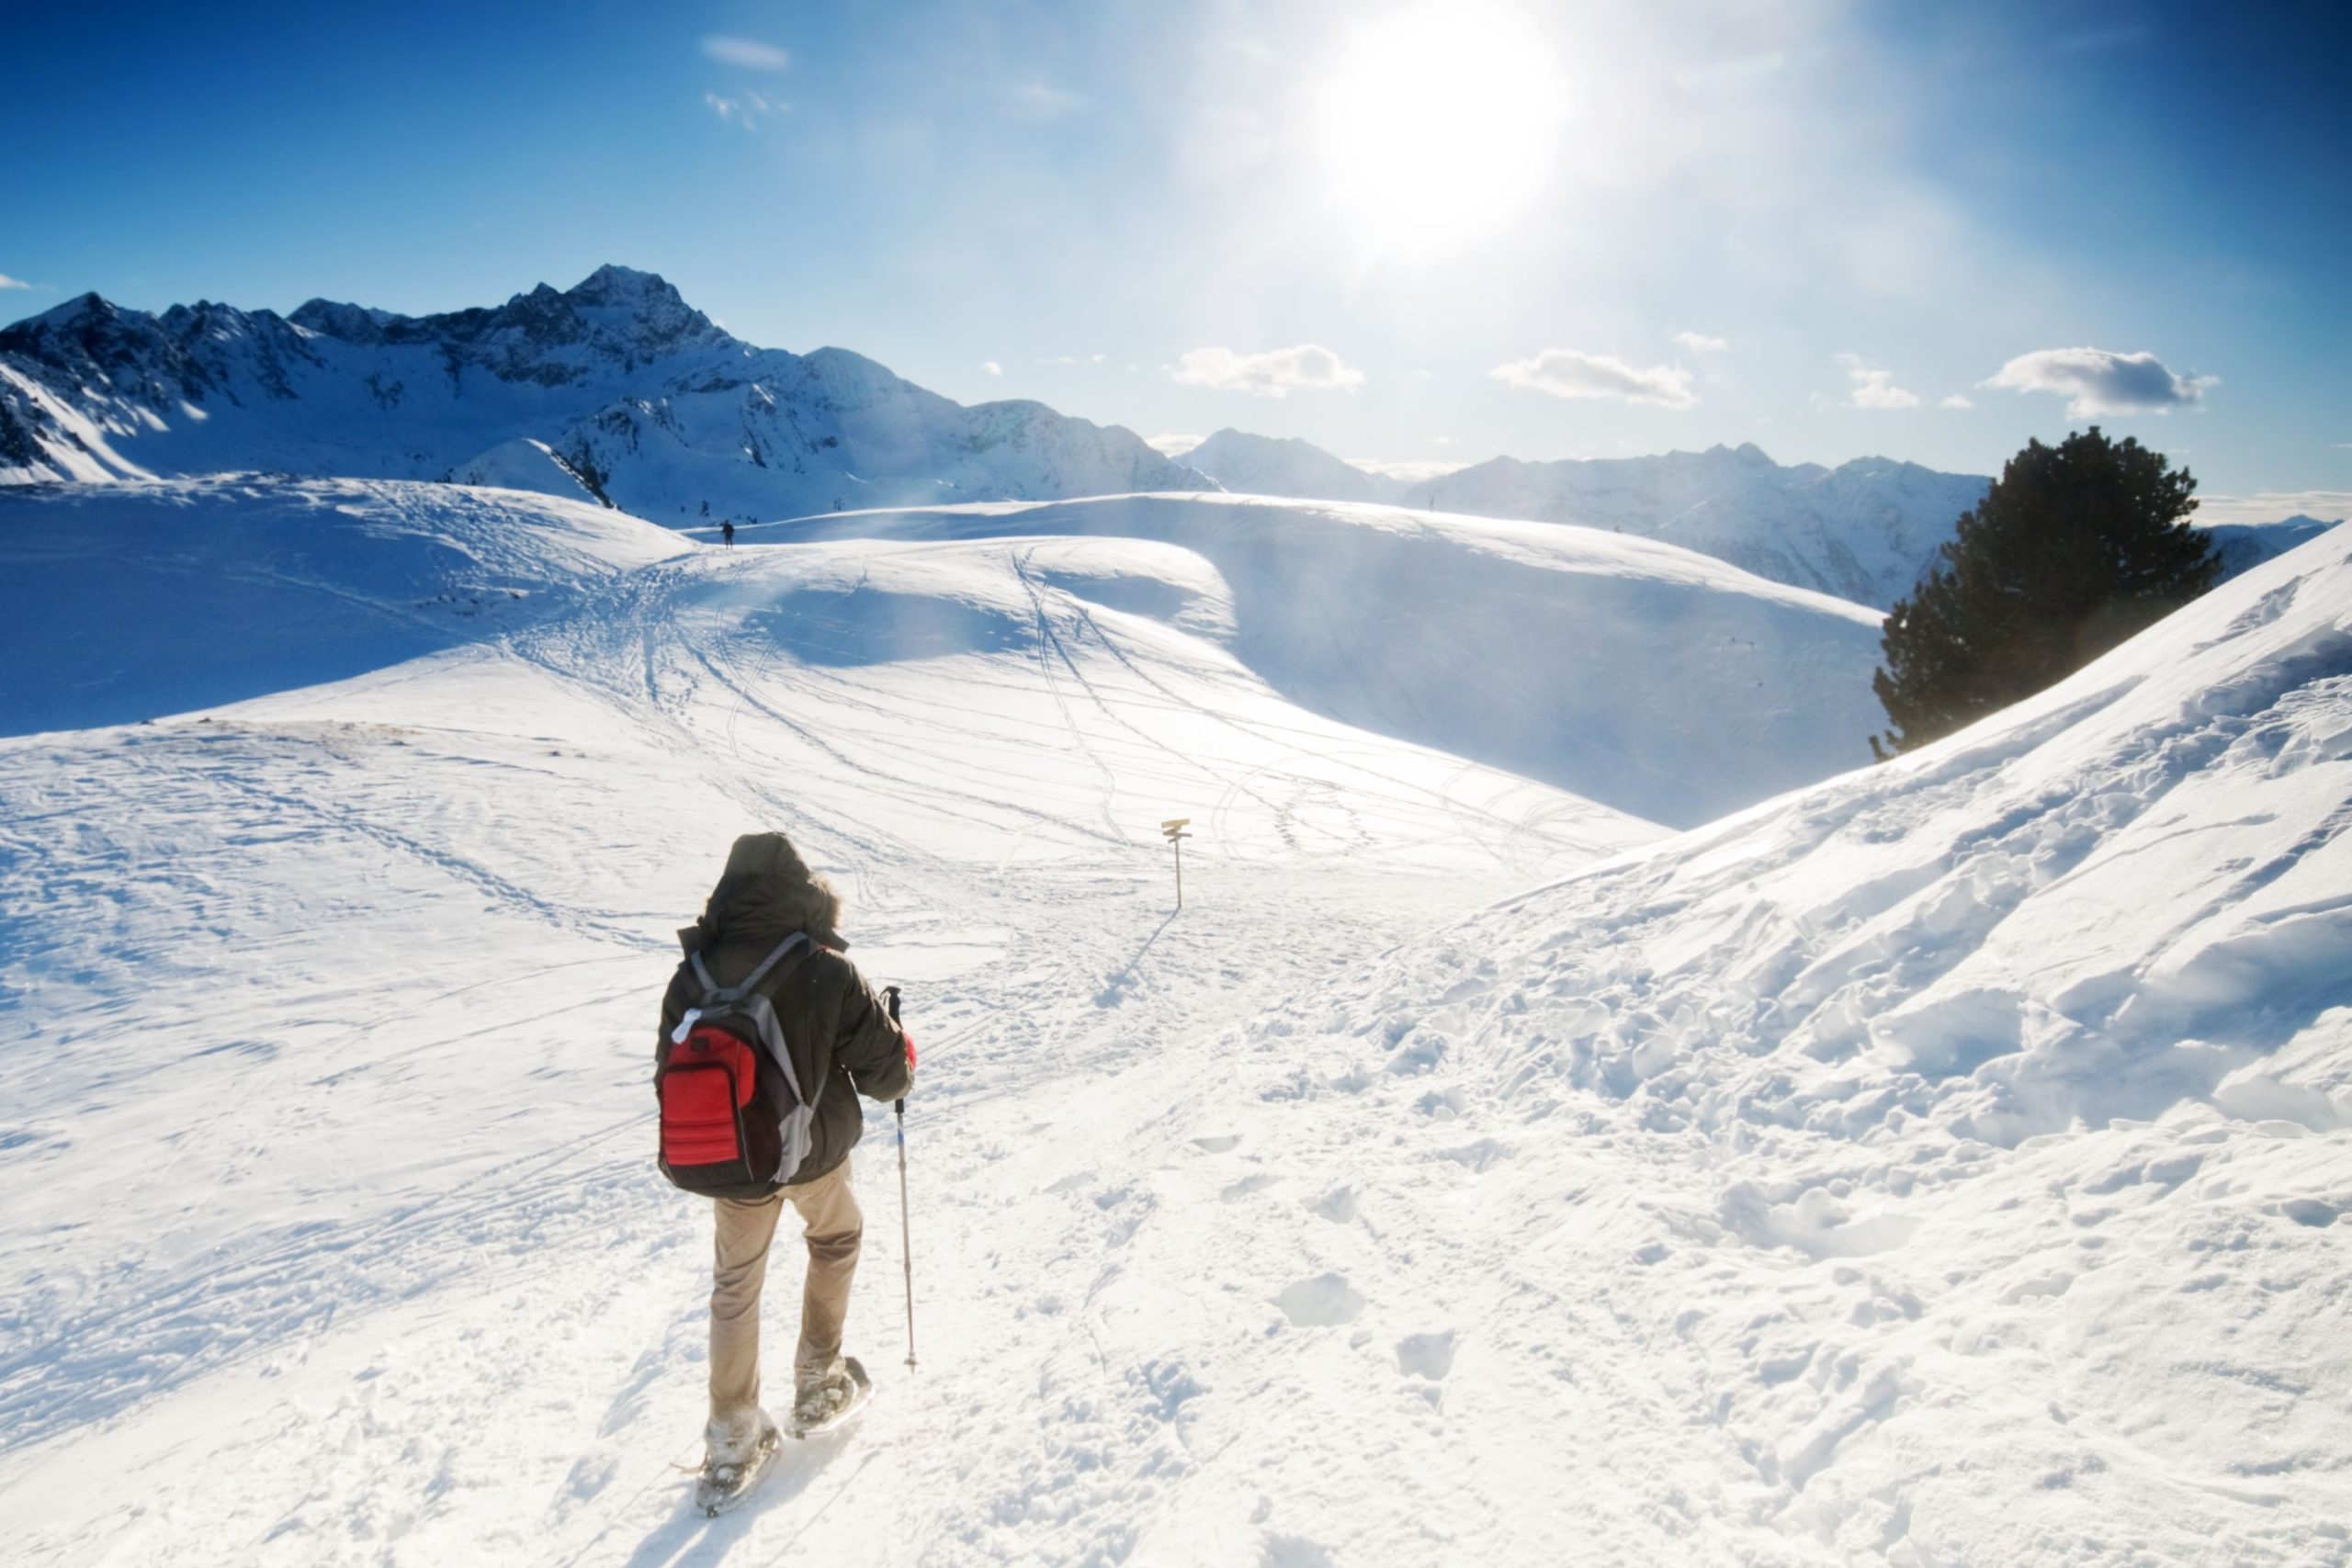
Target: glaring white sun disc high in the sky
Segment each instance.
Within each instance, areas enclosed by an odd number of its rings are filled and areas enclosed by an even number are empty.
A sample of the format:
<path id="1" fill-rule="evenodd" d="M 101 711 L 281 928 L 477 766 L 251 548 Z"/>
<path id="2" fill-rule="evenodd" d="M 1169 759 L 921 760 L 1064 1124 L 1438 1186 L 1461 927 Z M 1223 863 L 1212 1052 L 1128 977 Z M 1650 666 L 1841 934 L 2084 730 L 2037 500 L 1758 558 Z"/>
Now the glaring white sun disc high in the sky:
<path id="1" fill-rule="evenodd" d="M 1534 26 L 1437 2 L 1350 40 L 1315 96 L 1315 139 L 1336 205 L 1383 249 L 1430 254 L 1529 207 L 1562 113 Z"/>

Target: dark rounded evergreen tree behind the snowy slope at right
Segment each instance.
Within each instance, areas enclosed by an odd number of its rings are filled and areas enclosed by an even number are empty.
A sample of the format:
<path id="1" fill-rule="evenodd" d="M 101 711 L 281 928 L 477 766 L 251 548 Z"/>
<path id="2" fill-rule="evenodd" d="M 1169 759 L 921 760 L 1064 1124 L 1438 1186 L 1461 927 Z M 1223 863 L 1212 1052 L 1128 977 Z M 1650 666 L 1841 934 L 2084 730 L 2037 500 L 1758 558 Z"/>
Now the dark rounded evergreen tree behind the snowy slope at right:
<path id="1" fill-rule="evenodd" d="M 2197 480 L 2133 437 L 2091 425 L 2027 442 L 1943 564 L 1886 616 L 1886 665 L 1870 686 L 1893 724 L 1882 762 L 2051 686 L 2220 578 L 2190 527 Z"/>

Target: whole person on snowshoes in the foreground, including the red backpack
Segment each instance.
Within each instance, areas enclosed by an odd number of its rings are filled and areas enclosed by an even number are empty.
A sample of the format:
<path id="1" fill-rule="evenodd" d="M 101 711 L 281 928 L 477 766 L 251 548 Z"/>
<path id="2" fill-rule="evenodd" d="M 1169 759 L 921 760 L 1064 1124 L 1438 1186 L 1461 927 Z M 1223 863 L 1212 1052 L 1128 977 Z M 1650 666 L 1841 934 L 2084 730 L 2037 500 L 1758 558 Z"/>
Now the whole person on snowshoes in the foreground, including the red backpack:
<path id="1" fill-rule="evenodd" d="M 809 1246 L 790 1432 L 826 1427 L 866 1394 L 863 1368 L 842 1356 L 863 1234 L 849 1150 L 866 1131 L 858 1095 L 887 1103 L 913 1086 L 915 1041 L 842 957 L 840 919 L 840 896 L 790 839 L 743 835 L 703 917 L 677 933 L 687 961 L 661 999 L 663 1173 L 717 1199 L 699 1488 L 713 1512 L 776 1450 L 760 1408 L 760 1286 L 786 1204 Z"/>

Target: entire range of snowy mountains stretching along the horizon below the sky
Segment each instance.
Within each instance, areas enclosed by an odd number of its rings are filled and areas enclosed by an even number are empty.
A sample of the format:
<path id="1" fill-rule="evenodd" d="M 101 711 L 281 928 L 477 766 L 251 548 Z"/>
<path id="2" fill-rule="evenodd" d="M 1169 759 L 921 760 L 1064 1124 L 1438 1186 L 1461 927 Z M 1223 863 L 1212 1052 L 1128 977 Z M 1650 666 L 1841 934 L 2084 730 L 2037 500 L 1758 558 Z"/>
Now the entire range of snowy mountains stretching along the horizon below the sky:
<path id="1" fill-rule="evenodd" d="M 82 294 L 0 329 L 0 484 L 209 473 L 586 494 L 680 527 L 1129 491 L 1385 501 L 1639 534 L 1879 609 L 1990 484 L 1891 458 L 1783 468 L 1752 444 L 1416 482 L 1242 430 L 1167 458 L 1040 402 L 957 404 L 844 348 L 755 348 L 619 266 L 447 315 L 151 315 Z M 2218 534 L 2241 571 L 2319 527 Z"/>

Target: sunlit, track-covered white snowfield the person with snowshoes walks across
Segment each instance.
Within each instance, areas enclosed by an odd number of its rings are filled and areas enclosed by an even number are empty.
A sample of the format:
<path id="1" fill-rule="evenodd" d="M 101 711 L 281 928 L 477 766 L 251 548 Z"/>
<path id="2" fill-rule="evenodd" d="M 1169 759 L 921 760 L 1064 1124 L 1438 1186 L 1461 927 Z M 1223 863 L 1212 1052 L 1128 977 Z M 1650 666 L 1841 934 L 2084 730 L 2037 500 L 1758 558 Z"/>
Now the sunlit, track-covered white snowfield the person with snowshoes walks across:
<path id="1" fill-rule="evenodd" d="M 1164 543 L 614 548 L 0 741 L 12 1561 L 2352 1561 L 2352 548 L 1665 842 Z M 644 1025 L 755 825 L 908 987 L 922 1366 L 870 1107 L 875 1403 L 703 1521 Z"/>

